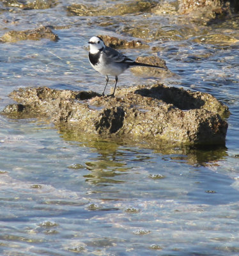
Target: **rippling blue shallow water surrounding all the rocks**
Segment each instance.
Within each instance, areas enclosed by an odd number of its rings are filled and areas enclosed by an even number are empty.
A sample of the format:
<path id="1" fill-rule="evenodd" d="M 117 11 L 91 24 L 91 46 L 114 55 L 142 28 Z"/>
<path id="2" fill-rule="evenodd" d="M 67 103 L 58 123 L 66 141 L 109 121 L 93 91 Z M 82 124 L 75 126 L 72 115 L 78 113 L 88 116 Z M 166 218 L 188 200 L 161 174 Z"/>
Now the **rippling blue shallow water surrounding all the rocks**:
<path id="1" fill-rule="evenodd" d="M 226 103 L 226 147 L 94 141 L 59 132 L 44 120 L 0 116 L 0 254 L 238 255 L 239 19 L 202 26 L 170 13 L 79 17 L 66 11 L 72 3 L 22 10 L 1 1 L 0 36 L 40 25 L 65 28 L 54 30 L 58 42 L 0 44 L 0 109 L 12 103 L 8 93 L 24 86 L 101 92 L 104 77 L 88 63 L 89 38 L 150 38 L 149 49 L 122 51 L 132 58 L 160 56 L 175 74 L 164 77 L 165 84 L 212 93 Z M 142 22 L 160 29 L 143 36 L 137 27 Z M 119 86 L 154 81 L 128 70 Z"/>

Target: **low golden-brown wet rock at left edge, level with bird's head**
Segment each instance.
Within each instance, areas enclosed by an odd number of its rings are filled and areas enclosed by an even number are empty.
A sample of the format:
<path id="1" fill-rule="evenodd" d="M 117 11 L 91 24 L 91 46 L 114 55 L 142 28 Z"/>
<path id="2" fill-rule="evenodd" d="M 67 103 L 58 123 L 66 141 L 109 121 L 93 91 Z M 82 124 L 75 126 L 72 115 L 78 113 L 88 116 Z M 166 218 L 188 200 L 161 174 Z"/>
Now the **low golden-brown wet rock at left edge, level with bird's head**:
<path id="1" fill-rule="evenodd" d="M 8 31 L 1 38 L 1 42 L 17 42 L 20 40 L 40 40 L 48 38 L 52 41 L 57 41 L 58 35 L 54 34 L 48 27 L 41 26 L 33 30 L 26 31 Z"/>

